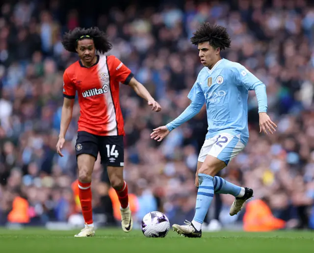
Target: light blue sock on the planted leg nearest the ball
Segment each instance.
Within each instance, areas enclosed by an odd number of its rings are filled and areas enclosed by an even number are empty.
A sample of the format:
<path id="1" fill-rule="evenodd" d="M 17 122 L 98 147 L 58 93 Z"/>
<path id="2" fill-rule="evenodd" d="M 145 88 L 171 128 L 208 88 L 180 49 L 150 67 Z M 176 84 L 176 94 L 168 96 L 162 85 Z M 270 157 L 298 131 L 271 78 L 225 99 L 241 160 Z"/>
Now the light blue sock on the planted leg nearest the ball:
<path id="1" fill-rule="evenodd" d="M 212 177 L 206 174 L 198 174 L 199 187 L 197 191 L 195 215 L 193 221 L 203 224 L 209 205 L 214 197 Z M 198 228 L 197 228 L 198 229 Z M 199 229 L 198 229 L 199 230 Z"/>

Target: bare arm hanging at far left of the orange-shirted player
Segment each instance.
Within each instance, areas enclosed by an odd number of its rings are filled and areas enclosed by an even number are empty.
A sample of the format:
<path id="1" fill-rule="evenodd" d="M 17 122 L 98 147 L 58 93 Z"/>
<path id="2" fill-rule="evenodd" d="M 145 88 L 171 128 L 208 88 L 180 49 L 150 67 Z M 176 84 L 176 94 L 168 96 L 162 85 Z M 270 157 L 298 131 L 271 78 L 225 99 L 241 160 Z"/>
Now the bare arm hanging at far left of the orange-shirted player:
<path id="1" fill-rule="evenodd" d="M 63 157 L 63 154 L 61 153 L 61 149 L 63 148 L 64 142 L 65 142 L 64 137 L 72 119 L 73 105 L 74 105 L 74 99 L 64 98 L 63 106 L 62 106 L 62 113 L 61 113 L 59 140 L 56 145 L 57 153 L 61 157 Z"/>

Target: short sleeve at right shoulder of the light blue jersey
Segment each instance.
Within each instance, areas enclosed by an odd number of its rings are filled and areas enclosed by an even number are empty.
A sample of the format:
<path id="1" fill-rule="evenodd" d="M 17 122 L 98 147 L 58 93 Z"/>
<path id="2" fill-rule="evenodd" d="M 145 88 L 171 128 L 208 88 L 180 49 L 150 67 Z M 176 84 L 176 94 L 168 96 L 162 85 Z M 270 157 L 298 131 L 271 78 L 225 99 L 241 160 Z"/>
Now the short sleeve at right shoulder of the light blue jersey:
<path id="1" fill-rule="evenodd" d="M 232 68 L 237 85 L 243 86 L 246 90 L 254 90 L 256 85 L 262 84 L 262 81 L 249 72 L 243 65 L 238 64 Z"/>

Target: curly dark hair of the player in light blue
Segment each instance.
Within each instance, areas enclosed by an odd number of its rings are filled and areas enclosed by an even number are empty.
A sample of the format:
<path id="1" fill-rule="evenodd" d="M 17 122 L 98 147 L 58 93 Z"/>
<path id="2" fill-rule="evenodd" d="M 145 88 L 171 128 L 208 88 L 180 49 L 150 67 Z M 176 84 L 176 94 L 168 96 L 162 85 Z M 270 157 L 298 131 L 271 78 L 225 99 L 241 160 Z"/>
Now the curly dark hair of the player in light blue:
<path id="1" fill-rule="evenodd" d="M 231 39 L 227 32 L 226 27 L 221 25 L 210 25 L 209 23 L 203 23 L 196 32 L 193 33 L 191 42 L 193 45 L 198 45 L 208 41 L 209 45 L 213 48 L 230 48 Z"/>

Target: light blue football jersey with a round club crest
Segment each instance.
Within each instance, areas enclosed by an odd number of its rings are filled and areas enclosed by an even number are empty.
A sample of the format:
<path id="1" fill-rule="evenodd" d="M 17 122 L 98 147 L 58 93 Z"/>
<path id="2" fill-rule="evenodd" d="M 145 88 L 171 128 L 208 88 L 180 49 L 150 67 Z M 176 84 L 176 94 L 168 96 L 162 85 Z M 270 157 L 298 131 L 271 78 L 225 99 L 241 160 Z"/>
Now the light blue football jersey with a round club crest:
<path id="1" fill-rule="evenodd" d="M 267 111 L 265 85 L 243 65 L 219 60 L 214 67 L 204 67 L 194 83 L 188 98 L 195 103 L 206 103 L 208 133 L 206 138 L 226 132 L 239 135 L 243 144 L 248 142 L 248 91 L 255 90 L 259 112 Z"/>

